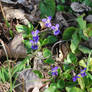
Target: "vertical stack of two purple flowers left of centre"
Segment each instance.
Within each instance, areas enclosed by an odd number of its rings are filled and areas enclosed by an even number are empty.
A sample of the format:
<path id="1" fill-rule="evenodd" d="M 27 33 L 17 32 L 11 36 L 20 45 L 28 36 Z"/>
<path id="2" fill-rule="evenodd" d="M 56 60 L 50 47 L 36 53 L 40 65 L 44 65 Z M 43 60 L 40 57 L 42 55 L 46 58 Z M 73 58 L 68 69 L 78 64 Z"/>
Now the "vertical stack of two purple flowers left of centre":
<path id="1" fill-rule="evenodd" d="M 32 31 L 33 40 L 30 40 L 30 43 L 32 44 L 31 48 L 33 50 L 38 49 L 38 45 L 37 45 L 39 41 L 38 33 L 39 33 L 39 30 Z"/>

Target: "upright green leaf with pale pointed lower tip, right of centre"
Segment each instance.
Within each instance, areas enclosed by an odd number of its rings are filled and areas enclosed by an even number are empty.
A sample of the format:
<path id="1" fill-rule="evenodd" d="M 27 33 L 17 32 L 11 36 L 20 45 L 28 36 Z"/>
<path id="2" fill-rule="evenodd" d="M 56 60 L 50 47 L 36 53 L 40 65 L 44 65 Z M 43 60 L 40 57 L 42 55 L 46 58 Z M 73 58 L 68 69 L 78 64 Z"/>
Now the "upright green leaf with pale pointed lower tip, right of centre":
<path id="1" fill-rule="evenodd" d="M 78 48 L 78 45 L 80 43 L 80 40 L 81 40 L 80 36 L 78 35 L 78 33 L 75 32 L 72 35 L 72 40 L 71 40 L 71 45 L 70 45 L 72 53 L 75 53 L 75 51 Z"/>

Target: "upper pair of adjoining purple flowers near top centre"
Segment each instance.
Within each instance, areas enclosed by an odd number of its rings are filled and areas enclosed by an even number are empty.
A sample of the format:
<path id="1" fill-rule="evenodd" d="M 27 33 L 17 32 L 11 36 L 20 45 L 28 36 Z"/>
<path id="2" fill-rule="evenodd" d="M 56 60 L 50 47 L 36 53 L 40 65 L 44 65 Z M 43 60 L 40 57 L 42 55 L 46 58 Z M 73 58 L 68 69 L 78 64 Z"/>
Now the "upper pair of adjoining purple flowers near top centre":
<path id="1" fill-rule="evenodd" d="M 59 24 L 56 24 L 55 26 L 52 26 L 51 18 L 52 18 L 51 16 L 49 16 L 47 18 L 44 18 L 44 19 L 42 19 L 42 22 L 45 23 L 46 27 L 49 27 L 53 30 L 54 35 L 58 35 L 60 33 Z"/>

